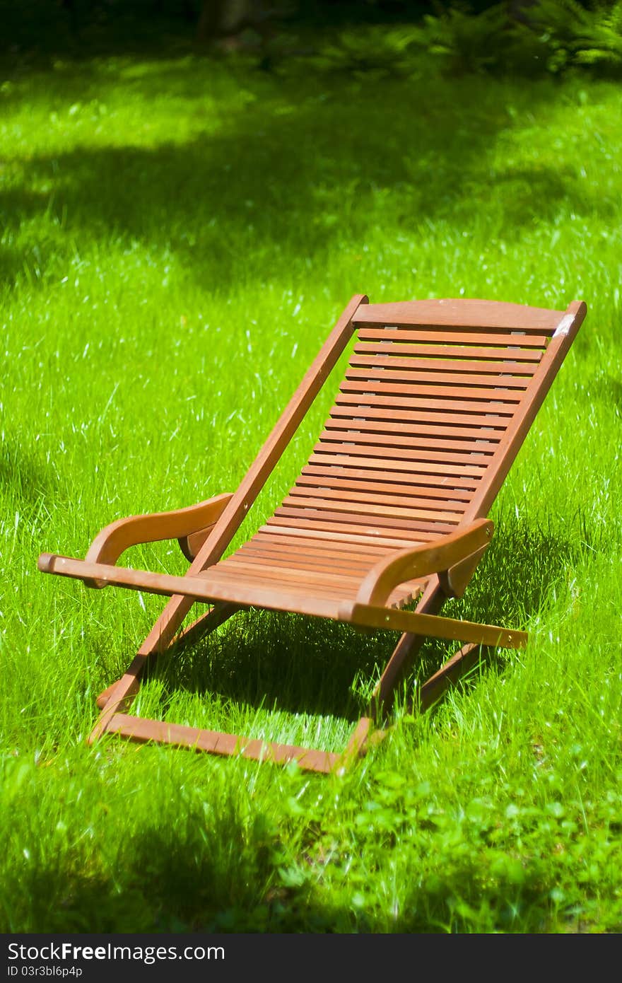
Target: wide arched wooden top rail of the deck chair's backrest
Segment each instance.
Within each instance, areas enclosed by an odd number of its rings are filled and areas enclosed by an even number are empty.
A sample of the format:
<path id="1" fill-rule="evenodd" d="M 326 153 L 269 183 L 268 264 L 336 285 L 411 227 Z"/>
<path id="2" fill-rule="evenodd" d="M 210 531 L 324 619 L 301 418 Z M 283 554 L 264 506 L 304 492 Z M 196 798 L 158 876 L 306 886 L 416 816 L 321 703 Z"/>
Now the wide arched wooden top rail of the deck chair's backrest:
<path id="1" fill-rule="evenodd" d="M 491 327 L 548 334 L 555 330 L 563 316 L 563 311 L 549 311 L 523 304 L 452 298 L 366 304 L 352 320 L 355 324 L 440 324 L 470 330 Z"/>

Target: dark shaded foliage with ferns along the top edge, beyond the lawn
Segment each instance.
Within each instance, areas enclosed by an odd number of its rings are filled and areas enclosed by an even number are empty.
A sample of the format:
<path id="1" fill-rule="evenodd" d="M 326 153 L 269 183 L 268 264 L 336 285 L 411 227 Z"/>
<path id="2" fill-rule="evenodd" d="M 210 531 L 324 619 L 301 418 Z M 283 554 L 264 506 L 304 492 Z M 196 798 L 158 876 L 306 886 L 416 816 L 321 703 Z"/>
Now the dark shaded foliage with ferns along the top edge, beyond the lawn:
<path id="1" fill-rule="evenodd" d="M 203 37 L 204 24 L 198 28 L 201 6 L 199 0 L 168 0 L 157 11 L 151 0 L 5 4 L 0 51 L 4 46 L 13 60 L 36 61 L 44 54 L 52 62 L 80 59 L 84 51 L 213 55 L 201 43 L 210 36 L 206 31 Z M 253 18 L 243 19 L 239 36 L 224 49 L 252 52 L 265 71 L 311 68 L 355 78 L 620 72 L 622 0 L 536 0 L 518 14 L 506 2 L 435 0 L 431 11 L 427 6 L 279 0 L 256 12 L 255 29 Z"/>

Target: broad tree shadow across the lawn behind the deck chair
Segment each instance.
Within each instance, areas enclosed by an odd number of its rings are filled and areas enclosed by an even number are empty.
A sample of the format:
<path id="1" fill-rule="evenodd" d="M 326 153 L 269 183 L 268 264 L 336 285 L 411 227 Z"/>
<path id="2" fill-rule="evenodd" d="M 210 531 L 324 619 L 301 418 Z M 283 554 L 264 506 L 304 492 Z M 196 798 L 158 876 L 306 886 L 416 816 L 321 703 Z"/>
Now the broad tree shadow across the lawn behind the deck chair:
<path id="1" fill-rule="evenodd" d="M 479 79 L 431 81 L 421 92 L 422 83 L 354 87 L 323 76 L 258 79 L 246 70 L 240 83 L 247 100 L 232 100 L 229 79 L 229 101 L 219 105 L 212 70 L 223 73 L 197 63 L 162 66 L 128 89 L 129 99 L 136 92 L 157 101 L 170 92 L 188 100 L 186 122 L 196 128 L 183 143 L 83 145 L 28 160 L 25 182 L 49 187 L 49 196 L 43 202 L 27 187 L 12 190 L 0 196 L 0 212 L 17 229 L 49 208 L 67 235 L 66 243 L 57 235 L 39 242 L 36 262 L 27 247 L 23 261 L 55 276 L 73 244 L 112 236 L 166 249 L 205 289 L 226 292 L 241 280 L 265 282 L 279 258 L 321 262 L 335 242 L 358 254 L 369 216 L 381 221 L 387 245 L 426 220 L 468 228 L 487 212 L 491 181 L 499 200 L 491 221 L 505 237 L 554 217 L 565 203 L 579 213 L 613 207 L 558 163 L 491 176 L 490 155 L 509 118 L 503 89 L 495 101 Z M 57 99 L 69 105 L 85 98 L 80 83 L 80 73 L 56 82 L 65 93 Z M 554 94 L 552 86 L 535 87 L 530 110 Z M 9 274 L 21 266 L 13 254 L 4 262 Z"/>

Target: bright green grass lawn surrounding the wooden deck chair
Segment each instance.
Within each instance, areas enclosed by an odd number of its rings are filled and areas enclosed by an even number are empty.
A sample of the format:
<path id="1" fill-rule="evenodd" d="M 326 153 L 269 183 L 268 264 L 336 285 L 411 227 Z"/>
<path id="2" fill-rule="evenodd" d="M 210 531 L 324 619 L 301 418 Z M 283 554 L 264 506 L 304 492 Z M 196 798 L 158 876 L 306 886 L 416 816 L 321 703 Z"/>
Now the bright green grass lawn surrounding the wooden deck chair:
<path id="1" fill-rule="evenodd" d="M 0 142 L 0 928 L 619 931 L 619 87 L 85 59 L 13 71 Z M 162 602 L 44 577 L 38 552 L 235 490 L 359 291 L 589 304 L 447 608 L 529 647 L 424 718 L 398 701 L 341 779 L 87 747 Z M 129 559 L 184 569 L 176 545 Z M 156 666 L 141 712 L 340 747 L 391 642 L 238 615 Z"/>

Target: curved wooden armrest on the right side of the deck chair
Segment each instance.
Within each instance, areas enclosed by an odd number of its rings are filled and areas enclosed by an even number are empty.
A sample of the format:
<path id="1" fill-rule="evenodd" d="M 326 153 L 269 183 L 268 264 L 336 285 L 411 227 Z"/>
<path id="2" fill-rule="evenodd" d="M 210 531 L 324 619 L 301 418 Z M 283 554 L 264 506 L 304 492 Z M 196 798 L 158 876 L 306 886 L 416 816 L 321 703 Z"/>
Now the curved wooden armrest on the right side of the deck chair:
<path id="1" fill-rule="evenodd" d="M 493 528 L 489 519 L 477 519 L 466 529 L 449 533 L 433 543 L 423 543 L 421 547 L 413 549 L 401 549 L 384 557 L 369 570 L 359 588 L 356 604 L 383 606 L 395 588 L 405 580 L 418 580 L 432 573 L 446 574 L 448 593 L 458 594 L 463 585 L 452 584 L 451 568 L 473 556 L 475 569 L 481 553 L 490 543 Z"/>

